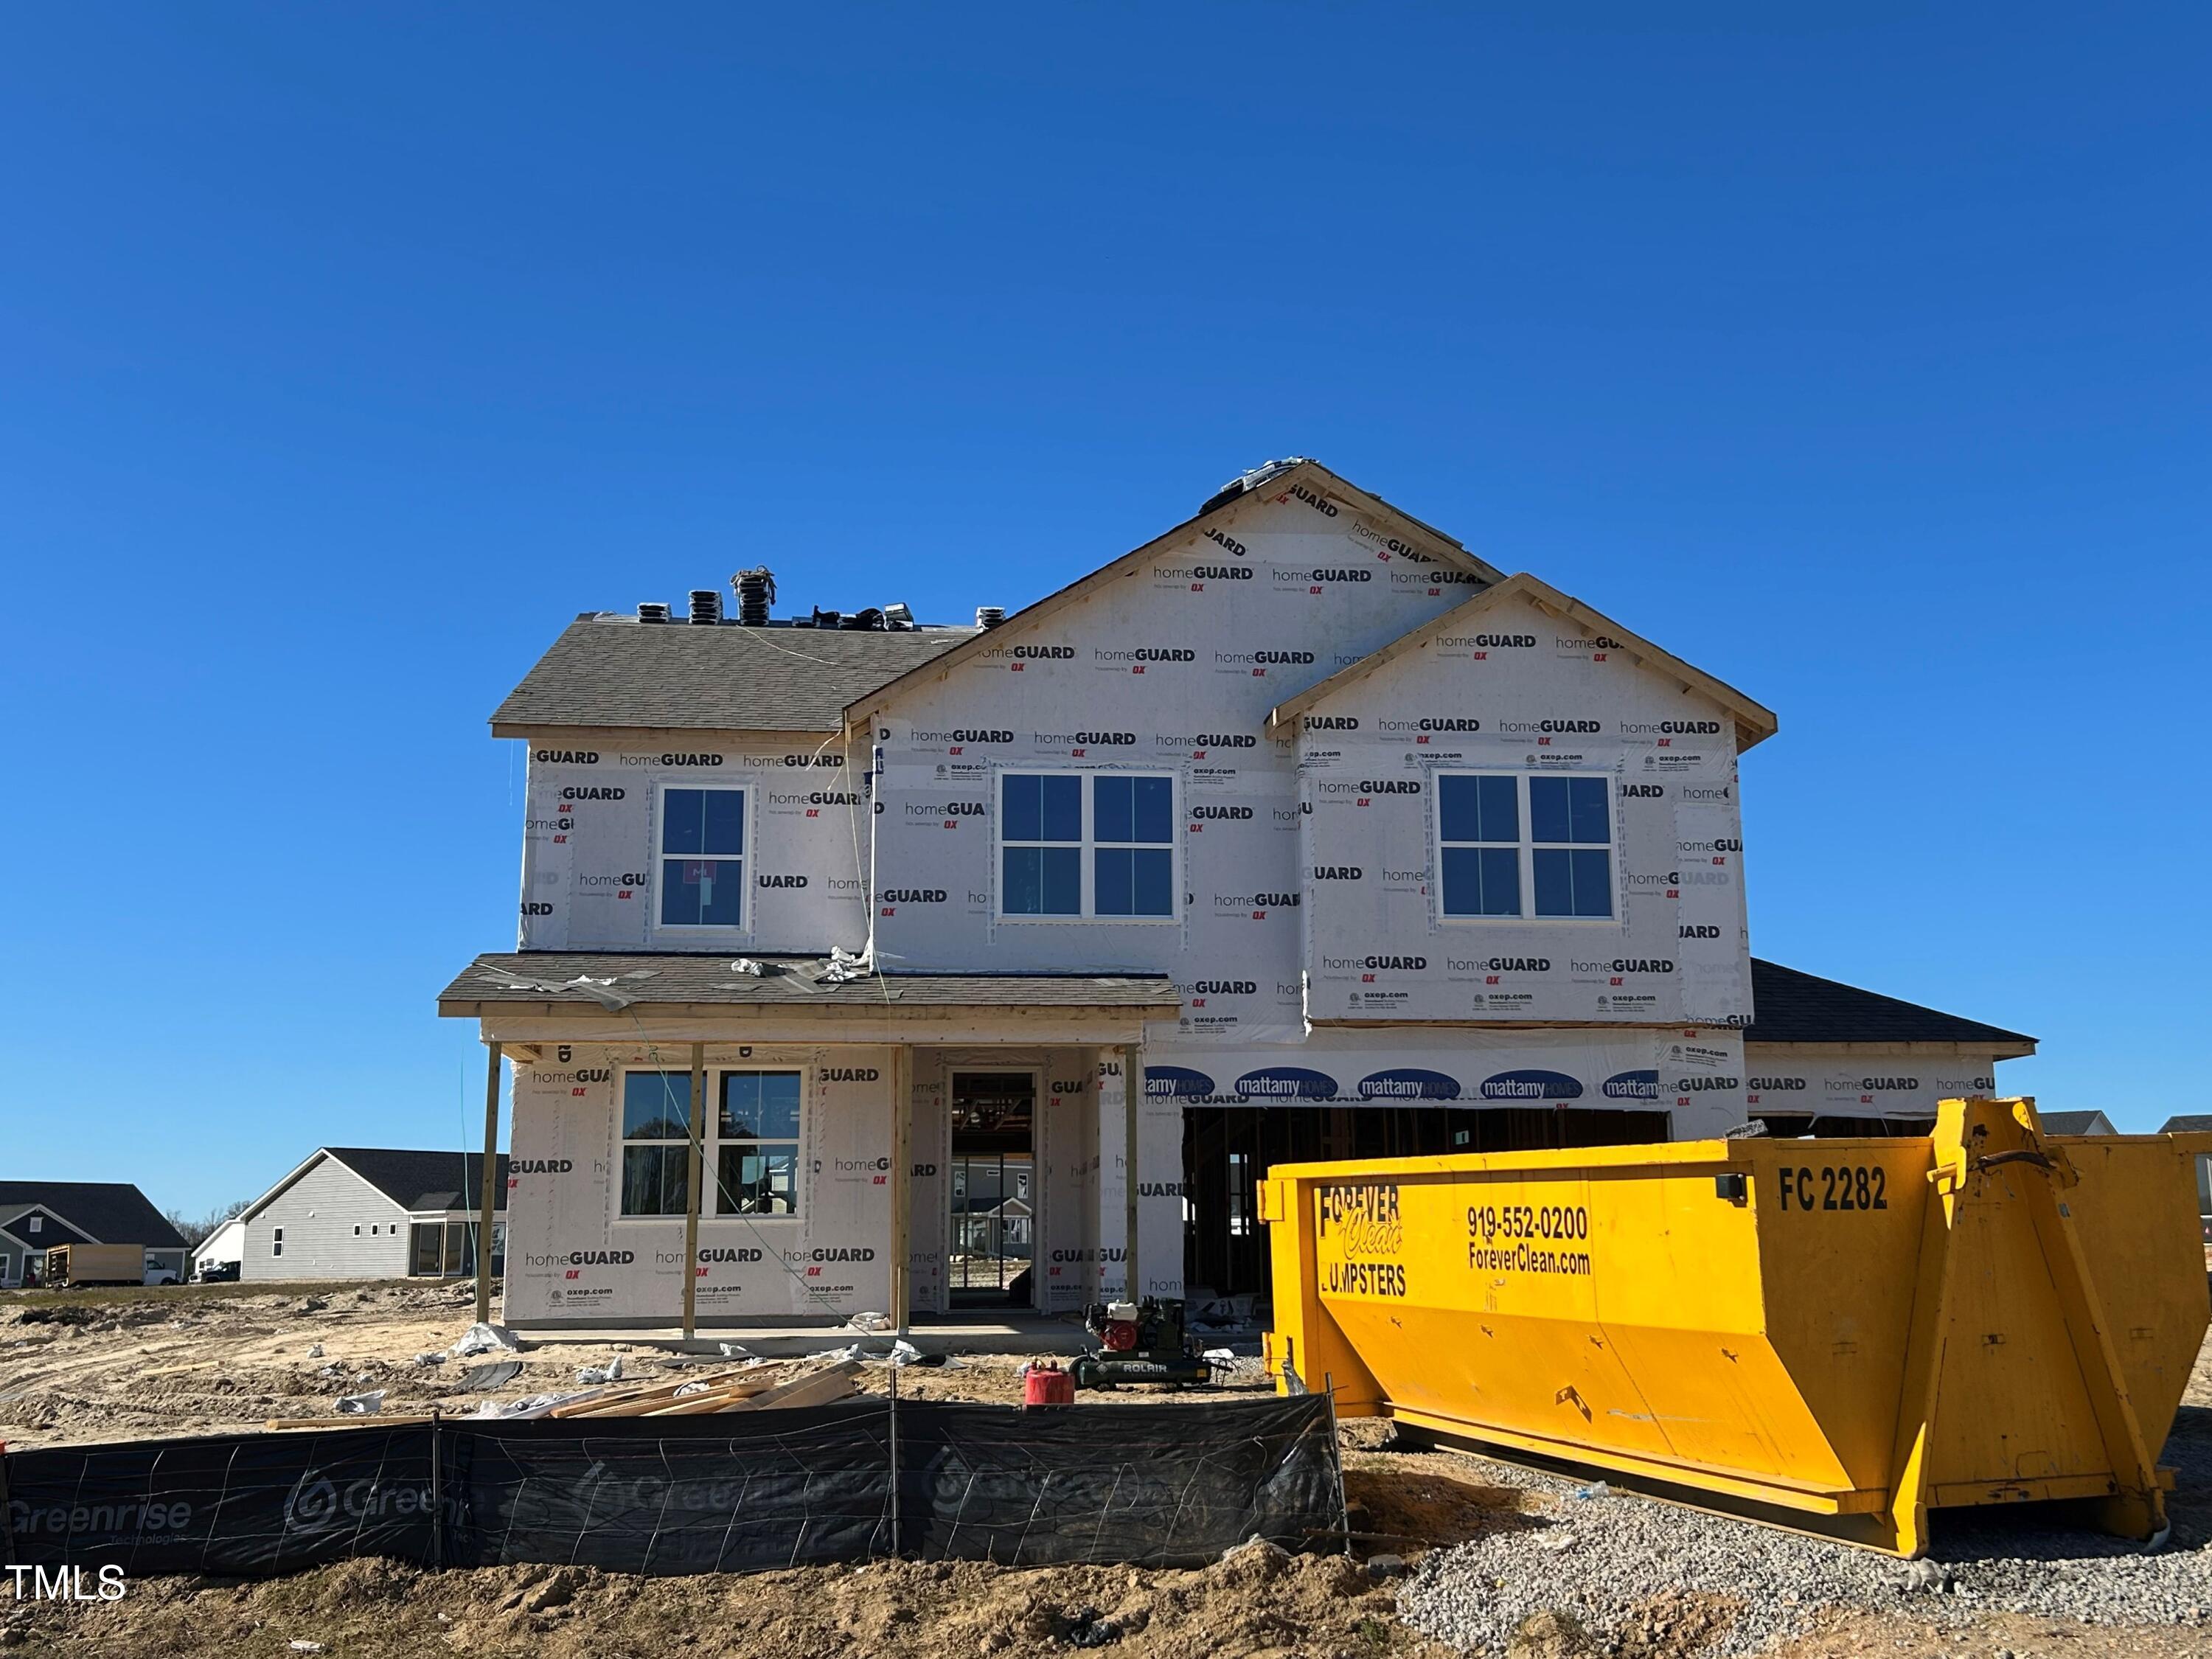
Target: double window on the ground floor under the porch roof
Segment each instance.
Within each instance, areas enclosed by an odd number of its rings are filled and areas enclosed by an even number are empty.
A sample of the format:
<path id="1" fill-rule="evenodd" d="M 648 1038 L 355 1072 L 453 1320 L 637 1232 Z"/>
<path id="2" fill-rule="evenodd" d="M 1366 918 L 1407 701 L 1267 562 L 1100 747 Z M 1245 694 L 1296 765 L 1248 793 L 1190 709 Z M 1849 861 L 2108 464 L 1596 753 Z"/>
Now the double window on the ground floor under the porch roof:
<path id="1" fill-rule="evenodd" d="M 710 1071 L 701 1214 L 799 1214 L 796 1071 Z M 622 1214 L 679 1217 L 690 1197 L 690 1073 L 622 1075 Z"/>

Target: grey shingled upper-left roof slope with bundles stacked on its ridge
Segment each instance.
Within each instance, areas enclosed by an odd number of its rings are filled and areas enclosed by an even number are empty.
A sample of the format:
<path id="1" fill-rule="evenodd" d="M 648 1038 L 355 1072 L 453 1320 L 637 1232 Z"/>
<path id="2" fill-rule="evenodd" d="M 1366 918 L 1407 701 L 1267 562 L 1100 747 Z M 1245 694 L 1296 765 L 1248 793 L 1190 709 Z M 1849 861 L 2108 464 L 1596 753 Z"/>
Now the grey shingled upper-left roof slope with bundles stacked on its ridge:
<path id="1" fill-rule="evenodd" d="M 491 714 L 507 726 L 644 726 L 703 732 L 838 732 L 845 706 L 920 668 L 975 628 L 843 633 L 571 622 Z"/>

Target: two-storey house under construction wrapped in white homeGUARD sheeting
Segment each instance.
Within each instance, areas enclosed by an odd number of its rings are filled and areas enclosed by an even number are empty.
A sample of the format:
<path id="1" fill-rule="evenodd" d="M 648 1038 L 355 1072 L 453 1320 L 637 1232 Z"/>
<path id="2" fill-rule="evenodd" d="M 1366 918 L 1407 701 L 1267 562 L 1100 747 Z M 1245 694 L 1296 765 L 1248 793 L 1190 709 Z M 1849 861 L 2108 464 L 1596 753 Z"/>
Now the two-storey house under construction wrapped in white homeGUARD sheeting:
<path id="1" fill-rule="evenodd" d="M 493 714 L 520 949 L 440 1013 L 515 1066 L 513 1325 L 672 1321 L 692 1265 L 710 1325 L 894 1265 L 949 1310 L 975 1157 L 1033 1164 L 1044 1310 L 1263 1290 L 1285 1157 L 1909 1128 L 2035 1048 L 1754 962 L 1774 714 L 1316 462 L 975 628 L 737 586 L 577 617 Z"/>

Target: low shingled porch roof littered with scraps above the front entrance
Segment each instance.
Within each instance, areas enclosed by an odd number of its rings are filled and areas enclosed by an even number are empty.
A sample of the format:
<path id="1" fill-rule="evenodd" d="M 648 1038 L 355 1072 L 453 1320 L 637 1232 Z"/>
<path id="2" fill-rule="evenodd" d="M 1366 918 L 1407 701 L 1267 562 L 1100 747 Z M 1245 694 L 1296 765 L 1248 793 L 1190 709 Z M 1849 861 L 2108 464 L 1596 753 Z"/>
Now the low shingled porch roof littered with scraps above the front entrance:
<path id="1" fill-rule="evenodd" d="M 478 1002 L 566 1002 L 597 1009 L 630 1002 L 1150 1009 L 1181 1002 L 1164 973 L 891 973 L 818 984 L 830 967 L 818 956 L 757 960 L 768 969 L 759 978 L 732 969 L 730 956 L 509 951 L 480 956 L 465 967 L 438 993 L 438 1009 L 467 1015 Z M 580 978 L 604 984 L 577 987 Z"/>

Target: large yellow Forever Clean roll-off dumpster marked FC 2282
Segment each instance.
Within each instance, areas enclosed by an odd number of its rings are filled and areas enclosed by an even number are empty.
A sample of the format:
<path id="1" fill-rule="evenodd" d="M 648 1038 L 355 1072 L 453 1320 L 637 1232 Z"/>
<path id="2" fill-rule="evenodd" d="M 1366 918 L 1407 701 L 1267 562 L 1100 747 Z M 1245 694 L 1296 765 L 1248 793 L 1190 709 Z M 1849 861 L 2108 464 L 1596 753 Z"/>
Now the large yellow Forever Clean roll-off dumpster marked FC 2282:
<path id="1" fill-rule="evenodd" d="M 1929 1509 L 2053 1498 L 2159 1540 L 2205 1150 L 1949 1099 L 1931 1139 L 1276 1166 L 1267 1369 L 1898 1555 Z"/>

